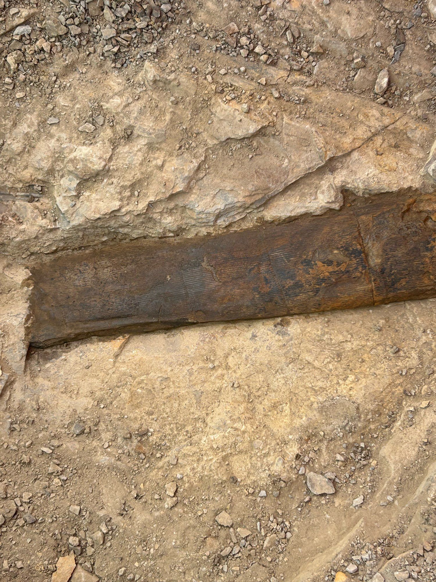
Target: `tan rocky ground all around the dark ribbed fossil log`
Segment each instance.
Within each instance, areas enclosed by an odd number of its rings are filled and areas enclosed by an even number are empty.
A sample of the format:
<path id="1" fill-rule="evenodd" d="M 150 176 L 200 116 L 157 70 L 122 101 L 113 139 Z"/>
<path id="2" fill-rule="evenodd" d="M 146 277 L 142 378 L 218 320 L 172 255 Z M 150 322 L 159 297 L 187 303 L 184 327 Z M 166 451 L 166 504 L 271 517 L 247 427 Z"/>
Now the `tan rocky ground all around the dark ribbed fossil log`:
<path id="1" fill-rule="evenodd" d="M 43 254 L 433 192 L 435 45 L 434 0 L 0 0 L 5 580 L 435 580 L 435 300 L 28 350 Z"/>

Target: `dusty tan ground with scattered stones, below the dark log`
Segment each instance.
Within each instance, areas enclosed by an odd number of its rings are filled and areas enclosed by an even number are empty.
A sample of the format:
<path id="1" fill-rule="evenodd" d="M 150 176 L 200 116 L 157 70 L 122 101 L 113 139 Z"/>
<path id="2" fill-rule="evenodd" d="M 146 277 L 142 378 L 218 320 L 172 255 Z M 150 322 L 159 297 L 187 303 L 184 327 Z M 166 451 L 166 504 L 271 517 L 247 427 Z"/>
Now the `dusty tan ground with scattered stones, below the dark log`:
<path id="1" fill-rule="evenodd" d="M 73 551 L 102 580 L 434 580 L 435 306 L 28 354 L 2 424 L 4 575 L 48 580 Z"/>

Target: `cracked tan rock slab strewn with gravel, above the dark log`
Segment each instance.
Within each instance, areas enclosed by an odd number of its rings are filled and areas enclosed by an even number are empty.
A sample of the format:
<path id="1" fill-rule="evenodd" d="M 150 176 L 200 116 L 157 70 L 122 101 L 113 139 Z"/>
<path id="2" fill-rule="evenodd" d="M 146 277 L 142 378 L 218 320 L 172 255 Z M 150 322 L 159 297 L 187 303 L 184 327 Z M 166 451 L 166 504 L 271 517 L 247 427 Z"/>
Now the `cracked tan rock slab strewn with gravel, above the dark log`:
<path id="1" fill-rule="evenodd" d="M 2 4 L 10 256 L 434 189 L 423 2 L 231 1 L 224 20 L 191 2 Z"/>

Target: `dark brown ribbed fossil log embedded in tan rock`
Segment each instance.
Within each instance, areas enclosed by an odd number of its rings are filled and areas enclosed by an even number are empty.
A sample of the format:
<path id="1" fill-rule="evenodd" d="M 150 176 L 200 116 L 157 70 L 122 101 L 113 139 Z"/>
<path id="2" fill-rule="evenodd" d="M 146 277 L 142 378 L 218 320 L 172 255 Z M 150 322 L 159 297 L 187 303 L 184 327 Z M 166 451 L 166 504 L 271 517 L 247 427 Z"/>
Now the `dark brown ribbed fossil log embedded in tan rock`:
<path id="1" fill-rule="evenodd" d="M 31 345 L 436 296 L 436 196 L 81 251 L 31 271 Z"/>

